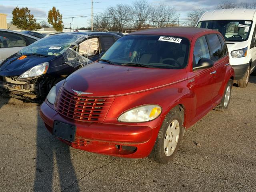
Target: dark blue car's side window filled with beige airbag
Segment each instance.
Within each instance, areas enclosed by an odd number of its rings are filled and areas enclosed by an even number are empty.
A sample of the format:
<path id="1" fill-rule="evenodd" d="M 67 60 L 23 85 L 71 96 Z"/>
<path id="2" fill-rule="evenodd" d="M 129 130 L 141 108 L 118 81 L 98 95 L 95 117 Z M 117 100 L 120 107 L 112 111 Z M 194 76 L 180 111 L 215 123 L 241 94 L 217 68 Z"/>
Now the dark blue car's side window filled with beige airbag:
<path id="1" fill-rule="evenodd" d="M 93 56 L 99 54 L 98 38 L 86 39 L 80 43 L 79 53 L 84 56 Z"/>

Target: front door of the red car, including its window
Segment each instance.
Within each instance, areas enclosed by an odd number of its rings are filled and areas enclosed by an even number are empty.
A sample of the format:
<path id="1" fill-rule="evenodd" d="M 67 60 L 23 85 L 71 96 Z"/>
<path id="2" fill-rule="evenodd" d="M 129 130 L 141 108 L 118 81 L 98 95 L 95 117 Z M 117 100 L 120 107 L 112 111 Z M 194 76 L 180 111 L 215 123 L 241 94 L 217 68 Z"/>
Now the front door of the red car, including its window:
<path id="1" fill-rule="evenodd" d="M 210 58 L 210 50 L 206 37 L 202 36 L 196 40 L 194 47 L 193 67 L 196 67 L 201 58 Z M 212 96 L 215 86 L 215 68 L 195 70 L 191 89 L 196 96 L 196 116 L 201 117 L 212 108 Z"/>

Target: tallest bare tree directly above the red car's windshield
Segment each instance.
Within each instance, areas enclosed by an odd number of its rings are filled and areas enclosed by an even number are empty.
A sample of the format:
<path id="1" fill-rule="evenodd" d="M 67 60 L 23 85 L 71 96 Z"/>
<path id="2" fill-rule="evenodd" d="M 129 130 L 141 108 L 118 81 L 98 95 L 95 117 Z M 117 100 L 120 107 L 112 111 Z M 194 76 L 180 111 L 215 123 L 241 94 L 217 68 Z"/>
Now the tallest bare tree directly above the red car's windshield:
<path id="1" fill-rule="evenodd" d="M 132 3 L 132 6 L 134 28 L 139 30 L 145 24 L 146 20 L 150 18 L 152 6 L 145 0 L 137 0 Z"/>

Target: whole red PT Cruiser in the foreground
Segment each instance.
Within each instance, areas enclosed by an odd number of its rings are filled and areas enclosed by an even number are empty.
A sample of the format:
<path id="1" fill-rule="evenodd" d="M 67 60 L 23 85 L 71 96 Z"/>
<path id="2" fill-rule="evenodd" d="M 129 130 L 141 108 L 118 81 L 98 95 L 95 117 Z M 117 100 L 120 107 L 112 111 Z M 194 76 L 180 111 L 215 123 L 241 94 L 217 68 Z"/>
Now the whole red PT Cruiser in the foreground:
<path id="1" fill-rule="evenodd" d="M 40 115 L 74 148 L 167 163 L 185 129 L 210 110 L 228 107 L 233 80 L 219 32 L 142 30 L 56 84 Z"/>

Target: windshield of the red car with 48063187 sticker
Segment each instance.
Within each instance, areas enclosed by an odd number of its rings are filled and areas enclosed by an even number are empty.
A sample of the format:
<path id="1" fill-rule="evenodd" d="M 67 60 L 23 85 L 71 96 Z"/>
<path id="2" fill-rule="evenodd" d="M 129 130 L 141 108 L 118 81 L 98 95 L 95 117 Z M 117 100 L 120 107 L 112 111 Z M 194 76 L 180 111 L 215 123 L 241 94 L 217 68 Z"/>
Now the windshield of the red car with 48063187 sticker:
<path id="1" fill-rule="evenodd" d="M 102 56 L 118 65 L 181 69 L 188 61 L 189 41 L 176 36 L 127 35 Z"/>

